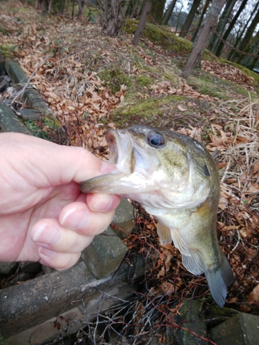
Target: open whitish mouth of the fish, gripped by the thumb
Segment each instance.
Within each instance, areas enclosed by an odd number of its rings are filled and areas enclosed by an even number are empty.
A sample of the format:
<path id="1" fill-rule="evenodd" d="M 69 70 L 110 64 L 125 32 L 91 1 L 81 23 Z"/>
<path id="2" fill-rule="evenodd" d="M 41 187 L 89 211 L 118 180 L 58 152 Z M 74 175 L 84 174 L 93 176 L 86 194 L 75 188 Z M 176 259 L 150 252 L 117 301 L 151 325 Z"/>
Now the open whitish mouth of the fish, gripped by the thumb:
<path id="1" fill-rule="evenodd" d="M 105 135 L 110 150 L 108 162 L 115 164 L 116 168 L 106 175 L 81 182 L 80 189 L 84 193 L 119 193 L 119 180 L 134 172 L 135 156 L 128 131 L 109 128 Z"/>

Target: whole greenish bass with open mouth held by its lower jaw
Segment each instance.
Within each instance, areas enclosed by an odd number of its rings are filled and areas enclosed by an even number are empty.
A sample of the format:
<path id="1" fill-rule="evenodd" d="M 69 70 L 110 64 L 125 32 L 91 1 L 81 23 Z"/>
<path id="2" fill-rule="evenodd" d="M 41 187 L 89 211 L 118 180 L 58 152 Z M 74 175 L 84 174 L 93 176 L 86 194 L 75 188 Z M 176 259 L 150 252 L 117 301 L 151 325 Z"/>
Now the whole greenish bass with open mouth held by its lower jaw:
<path id="1" fill-rule="evenodd" d="M 222 308 L 233 273 L 218 243 L 220 178 L 213 157 L 191 137 L 139 124 L 108 129 L 106 141 L 116 168 L 81 182 L 81 191 L 142 204 L 157 220 L 162 245 L 173 240 L 183 266 L 193 275 L 204 273 Z"/>

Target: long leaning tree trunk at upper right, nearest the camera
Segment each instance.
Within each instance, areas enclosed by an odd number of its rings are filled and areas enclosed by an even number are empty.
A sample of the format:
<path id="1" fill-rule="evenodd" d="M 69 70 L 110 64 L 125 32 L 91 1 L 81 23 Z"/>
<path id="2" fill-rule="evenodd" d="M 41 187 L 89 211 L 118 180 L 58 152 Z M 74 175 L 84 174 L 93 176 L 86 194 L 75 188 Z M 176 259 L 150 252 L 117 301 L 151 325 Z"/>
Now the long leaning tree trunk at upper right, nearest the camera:
<path id="1" fill-rule="evenodd" d="M 226 3 L 226 1 L 227 0 L 213 0 L 212 1 L 211 8 L 209 9 L 209 12 L 207 15 L 206 23 L 204 24 L 204 27 L 198 33 L 196 41 L 193 43 L 191 54 L 189 55 L 189 58 L 182 72 L 183 78 L 188 78 L 189 75 L 191 74 L 199 55 L 201 54 L 202 50 L 205 47 L 205 44 L 207 43 L 209 34 L 211 33 L 211 29 L 213 28 L 215 23 L 217 23 L 218 16 L 220 15 L 220 11 L 222 10 L 222 7 Z"/>

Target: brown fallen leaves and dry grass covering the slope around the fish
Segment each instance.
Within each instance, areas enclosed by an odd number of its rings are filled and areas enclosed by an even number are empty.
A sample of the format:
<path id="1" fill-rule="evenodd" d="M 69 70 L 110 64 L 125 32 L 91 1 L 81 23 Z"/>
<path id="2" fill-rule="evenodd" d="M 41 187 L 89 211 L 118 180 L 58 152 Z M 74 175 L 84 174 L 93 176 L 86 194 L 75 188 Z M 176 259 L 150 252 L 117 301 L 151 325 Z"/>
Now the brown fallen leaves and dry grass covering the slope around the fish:
<path id="1" fill-rule="evenodd" d="M 98 73 L 122 57 L 129 61 L 128 70 L 138 73 L 130 64 L 131 37 L 124 34 L 111 39 L 104 36 L 98 24 L 84 26 L 65 17 L 60 17 L 59 21 L 50 17 L 44 22 L 37 21 L 39 14 L 32 8 L 30 14 L 19 14 L 24 21 L 20 26 L 15 16 L 5 13 L 3 3 L 0 3 L 0 12 L 4 26 L 11 33 L 1 35 L 0 43 L 19 47 L 15 56 L 28 77 L 40 65 L 32 83 L 66 128 L 69 144 L 82 146 L 97 157 L 108 159 L 102 119 L 108 119 L 108 127 L 116 128 L 109 121 L 109 114 L 117 106 L 124 105 L 127 90 L 122 85 L 119 92 L 112 94 Z M 150 57 L 148 48 L 143 46 L 135 48 L 135 52 L 149 66 L 163 63 L 160 55 L 153 53 Z M 173 86 L 171 81 L 157 80 L 149 90 L 140 92 L 139 97 L 184 95 L 204 99 L 213 105 L 214 115 L 206 144 L 210 152 L 219 152 L 221 192 L 217 228 L 220 245 L 235 275 L 227 305 L 239 308 L 242 303 L 248 306 L 247 311 L 258 313 L 259 99 L 250 97 L 249 91 L 254 91 L 251 79 L 237 68 L 208 61 L 202 61 L 202 68 L 247 88 L 248 97 L 235 98 L 236 94 L 231 95 L 229 90 L 231 101 L 222 102 L 193 90 L 188 81 L 181 78 L 178 86 Z M 186 110 L 182 105 L 178 109 L 180 112 Z M 190 125 L 179 131 L 203 141 L 202 126 Z M 148 293 L 163 294 L 178 304 L 179 299 L 186 297 L 208 298 L 205 278 L 195 277 L 184 269 L 179 251 L 171 244 L 162 246 L 158 241 L 154 219 L 140 206 L 136 208 L 139 213 L 135 233 L 125 242 L 129 253 L 137 252 L 145 257 Z"/>

